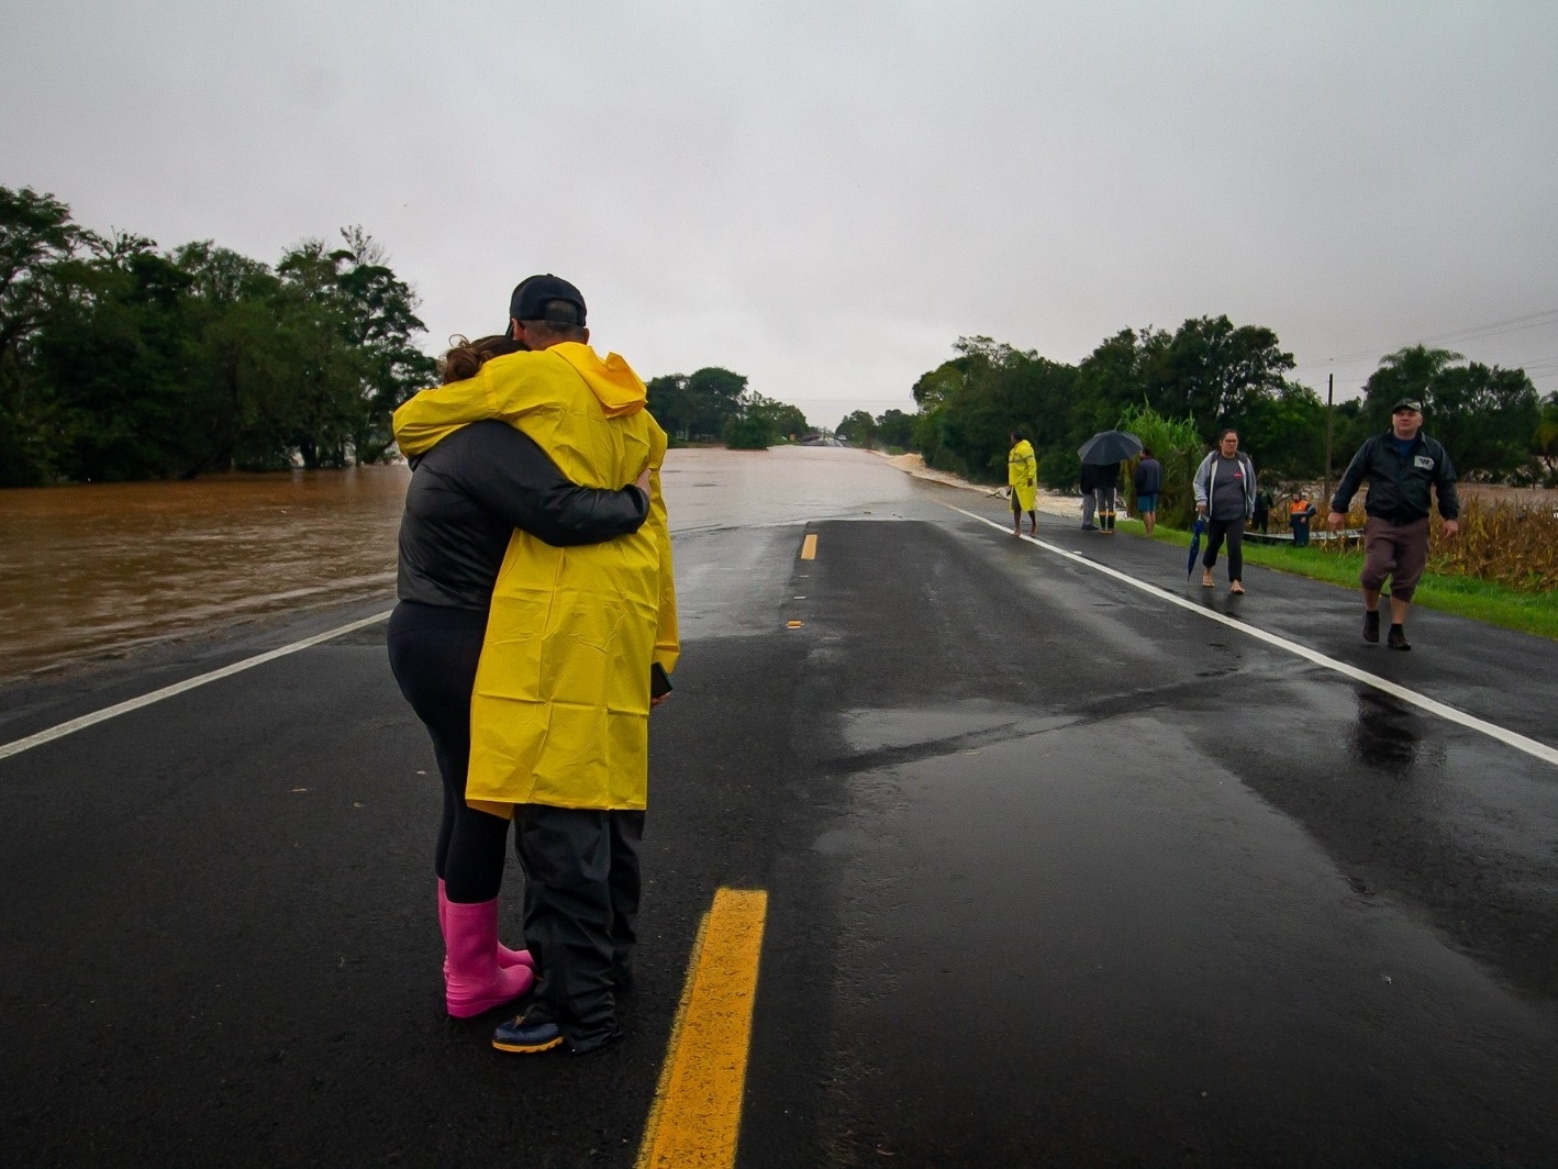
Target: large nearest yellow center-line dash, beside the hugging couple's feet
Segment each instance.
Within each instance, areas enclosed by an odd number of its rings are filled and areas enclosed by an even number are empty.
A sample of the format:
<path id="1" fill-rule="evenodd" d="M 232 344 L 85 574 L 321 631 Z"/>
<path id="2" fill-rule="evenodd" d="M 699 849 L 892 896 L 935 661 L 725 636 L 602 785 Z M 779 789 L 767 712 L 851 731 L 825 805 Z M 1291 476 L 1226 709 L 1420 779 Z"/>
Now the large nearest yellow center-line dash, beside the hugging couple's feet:
<path id="1" fill-rule="evenodd" d="M 815 536 L 812 536 L 815 539 Z M 731 1169 L 768 893 L 721 888 L 698 929 L 637 1169 Z"/>

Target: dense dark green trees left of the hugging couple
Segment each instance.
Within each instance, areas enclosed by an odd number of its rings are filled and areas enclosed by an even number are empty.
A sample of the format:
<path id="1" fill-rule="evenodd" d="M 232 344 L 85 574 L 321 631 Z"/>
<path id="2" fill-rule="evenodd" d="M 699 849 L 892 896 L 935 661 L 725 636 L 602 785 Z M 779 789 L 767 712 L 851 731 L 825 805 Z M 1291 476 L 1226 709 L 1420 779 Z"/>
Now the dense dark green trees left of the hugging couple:
<path id="1" fill-rule="evenodd" d="M 419 332 L 361 228 L 271 268 L 101 237 L 51 195 L 0 187 L 0 485 L 380 460 L 390 413 L 433 380 Z"/>

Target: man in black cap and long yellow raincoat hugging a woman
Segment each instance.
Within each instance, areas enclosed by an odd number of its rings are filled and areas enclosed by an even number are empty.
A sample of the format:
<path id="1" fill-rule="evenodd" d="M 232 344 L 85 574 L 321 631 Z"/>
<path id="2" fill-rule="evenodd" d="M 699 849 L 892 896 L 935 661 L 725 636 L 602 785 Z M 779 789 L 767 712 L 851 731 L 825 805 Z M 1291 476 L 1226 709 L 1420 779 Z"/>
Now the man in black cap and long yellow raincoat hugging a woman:
<path id="1" fill-rule="evenodd" d="M 584 298 L 572 284 L 550 274 L 520 282 L 509 318 L 531 352 L 424 390 L 396 410 L 394 432 L 410 457 L 497 418 L 580 486 L 622 486 L 650 469 L 650 517 L 633 535 L 550 547 L 514 533 L 471 700 L 466 798 L 513 812 L 538 973 L 530 1007 L 497 1029 L 492 1046 L 566 1043 L 583 1054 L 617 1038 L 615 994 L 631 984 L 648 712 L 679 653 L 659 483 L 667 440 L 639 376 L 589 348 Z"/>

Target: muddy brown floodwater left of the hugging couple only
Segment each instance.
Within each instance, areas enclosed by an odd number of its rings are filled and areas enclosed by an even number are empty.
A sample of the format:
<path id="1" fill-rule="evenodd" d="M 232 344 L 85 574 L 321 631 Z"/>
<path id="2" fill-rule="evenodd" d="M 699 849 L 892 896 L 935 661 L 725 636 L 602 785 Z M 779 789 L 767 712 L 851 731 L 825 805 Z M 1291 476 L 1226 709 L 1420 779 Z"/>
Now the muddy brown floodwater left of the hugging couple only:
<path id="1" fill-rule="evenodd" d="M 0 493 L 0 676 L 394 592 L 410 471 Z"/>

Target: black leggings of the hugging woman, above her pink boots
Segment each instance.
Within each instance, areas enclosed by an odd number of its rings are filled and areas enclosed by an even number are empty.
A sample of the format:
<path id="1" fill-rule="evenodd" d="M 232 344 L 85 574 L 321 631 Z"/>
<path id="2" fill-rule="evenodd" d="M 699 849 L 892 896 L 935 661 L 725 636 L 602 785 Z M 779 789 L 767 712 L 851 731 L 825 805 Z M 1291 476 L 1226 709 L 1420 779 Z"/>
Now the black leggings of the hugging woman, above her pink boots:
<path id="1" fill-rule="evenodd" d="M 450 901 L 491 901 L 503 885 L 508 820 L 466 804 L 471 762 L 471 690 L 477 681 L 486 611 L 404 600 L 390 614 L 390 669 L 427 725 L 444 779 L 433 868 Z"/>

